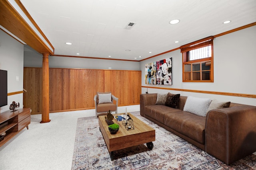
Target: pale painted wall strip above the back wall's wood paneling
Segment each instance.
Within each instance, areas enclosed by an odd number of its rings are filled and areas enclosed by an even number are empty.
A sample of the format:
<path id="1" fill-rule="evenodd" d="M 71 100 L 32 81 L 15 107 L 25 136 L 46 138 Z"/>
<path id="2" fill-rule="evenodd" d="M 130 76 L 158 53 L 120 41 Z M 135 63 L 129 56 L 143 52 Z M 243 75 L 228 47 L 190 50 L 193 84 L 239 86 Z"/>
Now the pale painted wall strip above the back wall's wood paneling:
<path id="1" fill-rule="evenodd" d="M 24 66 L 42 67 L 42 55 L 25 51 Z M 108 69 L 111 67 L 112 70 L 140 70 L 140 62 L 49 56 L 49 67 L 88 69 Z"/>

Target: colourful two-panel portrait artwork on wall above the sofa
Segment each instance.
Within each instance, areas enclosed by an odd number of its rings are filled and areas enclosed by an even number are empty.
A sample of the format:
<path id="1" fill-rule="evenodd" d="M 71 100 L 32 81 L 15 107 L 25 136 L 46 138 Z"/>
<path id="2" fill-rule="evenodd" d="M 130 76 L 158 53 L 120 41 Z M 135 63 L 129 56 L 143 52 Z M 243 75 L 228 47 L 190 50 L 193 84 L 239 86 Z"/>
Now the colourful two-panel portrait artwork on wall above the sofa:
<path id="1" fill-rule="evenodd" d="M 145 65 L 146 84 L 172 85 L 172 58 Z"/>

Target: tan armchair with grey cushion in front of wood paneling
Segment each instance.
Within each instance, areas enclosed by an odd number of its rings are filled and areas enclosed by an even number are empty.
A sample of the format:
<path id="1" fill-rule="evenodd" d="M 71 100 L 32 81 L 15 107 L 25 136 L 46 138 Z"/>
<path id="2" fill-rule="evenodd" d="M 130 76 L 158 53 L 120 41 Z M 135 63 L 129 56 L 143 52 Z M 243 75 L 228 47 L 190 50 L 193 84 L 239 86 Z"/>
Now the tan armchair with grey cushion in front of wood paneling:
<path id="1" fill-rule="evenodd" d="M 116 104 L 113 101 L 116 100 Z M 108 111 L 115 111 L 117 113 L 118 98 L 116 98 L 111 92 L 97 92 L 94 96 L 95 102 L 95 114 L 96 118 L 100 113 L 108 113 Z"/>

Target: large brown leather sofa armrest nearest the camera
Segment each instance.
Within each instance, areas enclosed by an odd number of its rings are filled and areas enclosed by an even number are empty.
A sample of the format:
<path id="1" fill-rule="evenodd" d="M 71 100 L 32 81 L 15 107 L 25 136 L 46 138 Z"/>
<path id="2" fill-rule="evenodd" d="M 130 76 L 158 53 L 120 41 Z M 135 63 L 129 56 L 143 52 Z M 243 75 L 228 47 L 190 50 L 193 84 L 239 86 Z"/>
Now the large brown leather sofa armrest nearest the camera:
<path id="1" fill-rule="evenodd" d="M 215 109 L 206 115 L 205 151 L 226 164 L 256 151 L 256 106 Z"/>

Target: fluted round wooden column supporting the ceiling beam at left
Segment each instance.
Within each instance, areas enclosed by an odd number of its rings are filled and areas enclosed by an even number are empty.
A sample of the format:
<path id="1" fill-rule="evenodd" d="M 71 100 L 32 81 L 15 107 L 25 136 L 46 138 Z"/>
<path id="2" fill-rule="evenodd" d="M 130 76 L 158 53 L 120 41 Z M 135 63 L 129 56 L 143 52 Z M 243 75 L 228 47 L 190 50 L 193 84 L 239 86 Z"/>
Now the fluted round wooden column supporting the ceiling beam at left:
<path id="1" fill-rule="evenodd" d="M 47 123 L 50 112 L 50 96 L 49 96 L 49 54 L 43 53 L 43 68 L 42 68 L 42 121 L 40 123 Z"/>

